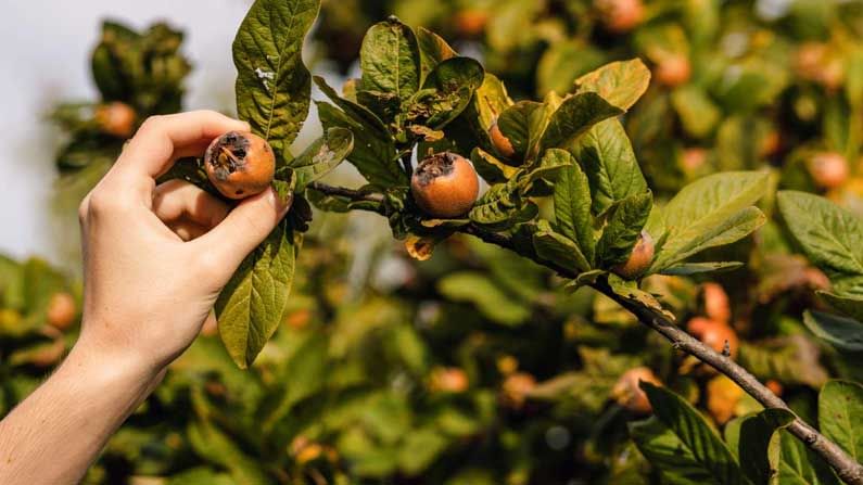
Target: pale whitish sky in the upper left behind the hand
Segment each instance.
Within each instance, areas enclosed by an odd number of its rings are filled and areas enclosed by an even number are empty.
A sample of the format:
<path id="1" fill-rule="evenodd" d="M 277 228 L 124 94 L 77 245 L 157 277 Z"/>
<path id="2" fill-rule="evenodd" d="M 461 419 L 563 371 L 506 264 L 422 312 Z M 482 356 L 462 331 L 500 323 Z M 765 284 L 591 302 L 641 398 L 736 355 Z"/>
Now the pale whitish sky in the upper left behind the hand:
<path id="1" fill-rule="evenodd" d="M 118 20 L 134 28 L 167 21 L 183 29 L 185 52 L 194 65 L 187 84 L 186 109 L 224 110 L 232 103 L 236 76 L 230 44 L 250 3 L 28 0 L 4 9 L 0 46 L 5 47 L 7 61 L 0 76 L 0 93 L 4 94 L 0 145 L 7 151 L 0 156 L 0 169 L 5 174 L 0 181 L 0 254 L 15 258 L 39 255 L 56 263 L 63 258 L 59 246 L 71 234 L 68 228 L 60 231 L 50 212 L 56 178 L 53 155 L 62 135 L 46 122 L 46 114 L 61 101 L 96 98 L 89 55 L 102 20 Z M 56 14 L 59 10 L 62 14 Z"/>

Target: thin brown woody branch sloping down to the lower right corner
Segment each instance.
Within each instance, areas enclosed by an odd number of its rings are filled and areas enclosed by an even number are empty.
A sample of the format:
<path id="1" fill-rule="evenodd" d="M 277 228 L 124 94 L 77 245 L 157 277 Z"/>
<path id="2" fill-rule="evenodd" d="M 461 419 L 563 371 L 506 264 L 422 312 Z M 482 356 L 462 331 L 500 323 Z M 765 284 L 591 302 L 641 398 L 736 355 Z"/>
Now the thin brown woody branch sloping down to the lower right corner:
<path id="1" fill-rule="evenodd" d="M 356 200 L 368 201 L 368 197 L 372 195 L 363 194 L 358 191 L 353 191 L 350 189 L 333 188 L 317 182 L 310 184 L 309 187 L 331 195 L 341 195 L 350 199 L 353 199 L 352 195 L 356 195 L 359 197 Z M 380 200 L 377 202 L 380 202 Z M 512 239 L 508 235 L 484 230 L 482 227 L 472 222 L 458 228 L 458 230 L 466 234 L 477 237 L 486 243 L 497 245 L 499 247 L 512 251 L 521 256 L 528 257 L 535 263 L 556 271 L 562 277 L 578 277 L 578 275 L 573 271 L 563 268 L 554 261 L 540 258 L 540 256 L 533 251 L 529 251 L 525 254 L 523 248 L 520 251 L 520 248 L 516 247 Z M 734 381 L 740 386 L 740 388 L 746 391 L 747 394 L 752 396 L 765 408 L 780 408 L 790 411 L 790 408 L 784 400 L 773 394 L 773 392 L 771 392 L 766 386 L 761 384 L 761 382 L 759 382 L 759 380 L 748 370 L 740 367 L 729 357 L 713 350 L 699 340 L 693 337 L 664 315 L 652 308 L 637 305 L 623 298 L 622 296 L 614 293 L 606 283 L 596 283 L 593 285 L 593 288 L 633 314 L 643 324 L 646 324 L 650 329 L 659 332 L 672 343 L 674 348 L 695 356 L 700 361 L 728 376 L 728 379 Z M 837 475 L 839 475 L 843 482 L 848 483 L 849 485 L 863 485 L 863 464 L 858 463 L 841 447 L 839 447 L 839 445 L 827 439 L 826 436 L 821 434 L 817 430 L 812 427 L 799 417 L 788 425 L 787 430 L 802 441 L 803 444 L 805 444 L 810 449 L 815 451 L 827 463 L 829 463 L 829 465 L 836 471 Z"/>

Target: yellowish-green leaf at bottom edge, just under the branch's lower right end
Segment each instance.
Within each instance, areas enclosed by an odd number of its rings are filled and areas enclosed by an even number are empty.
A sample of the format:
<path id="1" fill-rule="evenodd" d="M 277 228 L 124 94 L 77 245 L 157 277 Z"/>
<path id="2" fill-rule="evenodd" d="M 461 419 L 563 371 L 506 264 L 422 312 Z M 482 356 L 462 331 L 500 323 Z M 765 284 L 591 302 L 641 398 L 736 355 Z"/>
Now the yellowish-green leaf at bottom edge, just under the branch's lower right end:
<path id="1" fill-rule="evenodd" d="M 833 470 L 820 456 L 800 439 L 785 430 L 779 430 L 779 474 L 782 485 L 839 485 Z"/>

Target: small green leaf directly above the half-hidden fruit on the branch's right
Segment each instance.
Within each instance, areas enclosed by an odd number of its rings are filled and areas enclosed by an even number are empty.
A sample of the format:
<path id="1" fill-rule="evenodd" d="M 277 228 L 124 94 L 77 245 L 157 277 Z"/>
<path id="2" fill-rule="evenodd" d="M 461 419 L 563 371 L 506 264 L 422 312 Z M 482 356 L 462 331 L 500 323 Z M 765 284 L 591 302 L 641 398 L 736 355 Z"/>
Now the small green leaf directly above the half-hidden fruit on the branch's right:
<path id="1" fill-rule="evenodd" d="M 613 266 L 630 257 L 652 206 L 653 194 L 648 191 L 631 195 L 608 209 L 608 221 L 596 244 L 597 257 L 602 265 Z"/>

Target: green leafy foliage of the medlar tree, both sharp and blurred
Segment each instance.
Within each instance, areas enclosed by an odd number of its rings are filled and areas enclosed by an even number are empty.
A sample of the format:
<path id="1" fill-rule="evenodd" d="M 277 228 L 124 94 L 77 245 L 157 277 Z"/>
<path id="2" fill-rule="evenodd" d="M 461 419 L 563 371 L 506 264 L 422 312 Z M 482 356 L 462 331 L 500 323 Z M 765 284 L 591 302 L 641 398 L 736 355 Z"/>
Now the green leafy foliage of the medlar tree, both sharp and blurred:
<path id="1" fill-rule="evenodd" d="M 317 2 L 255 2 L 233 49 L 239 114 L 277 148 L 294 208 L 223 293 L 225 345 L 212 328 L 199 337 L 88 480 L 840 483 L 787 427 L 800 417 L 863 454 L 858 174 L 827 189 L 810 164 L 860 155 L 860 9 L 798 1 L 765 20 L 751 2 L 649 5 L 621 35 L 578 0 L 327 1 L 315 35 L 360 68 L 335 90 L 300 59 Z M 465 11 L 485 13 L 481 31 L 448 22 Z M 827 46 L 816 71 L 841 65 L 838 86 L 791 62 L 813 39 Z M 482 62 L 458 53 L 475 42 Z M 681 86 L 658 80 L 670 54 L 691 65 Z M 329 100 L 316 101 L 323 135 L 294 156 L 312 82 Z M 461 218 L 426 217 L 408 190 L 413 156 L 443 150 L 488 186 Z M 365 184 L 328 191 L 319 179 L 343 158 Z M 207 187 L 193 161 L 167 177 Z M 366 264 L 354 251 L 368 219 L 321 210 L 309 227 L 309 203 L 382 215 L 431 260 L 381 244 Z M 656 255 L 625 281 L 612 268 L 643 229 Z M 75 330 L 46 337 L 39 303 L 74 285 L 49 284 L 38 261 L 2 268 L 5 411 L 46 372 L 27 352 Z M 731 297 L 724 317 L 710 281 Z M 780 384 L 794 413 L 763 409 L 591 286 L 694 334 L 694 317 L 722 320 L 736 360 Z M 663 384 L 642 385 L 647 419 L 614 391 L 638 366 Z"/>

